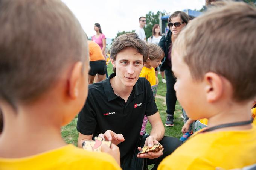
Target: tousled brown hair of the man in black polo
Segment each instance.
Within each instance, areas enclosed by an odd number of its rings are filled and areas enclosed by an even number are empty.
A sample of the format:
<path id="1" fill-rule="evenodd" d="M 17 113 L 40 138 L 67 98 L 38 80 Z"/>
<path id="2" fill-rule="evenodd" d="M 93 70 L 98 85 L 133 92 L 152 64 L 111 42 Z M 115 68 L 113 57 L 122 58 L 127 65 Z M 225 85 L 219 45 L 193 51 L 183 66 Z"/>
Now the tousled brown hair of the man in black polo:
<path id="1" fill-rule="evenodd" d="M 110 49 L 110 58 L 116 60 L 116 55 L 127 47 L 134 48 L 138 53 L 142 54 L 143 62 L 148 59 L 148 44 L 134 32 L 120 35 L 114 39 Z M 113 71 L 116 72 L 116 69 L 113 68 Z"/>

